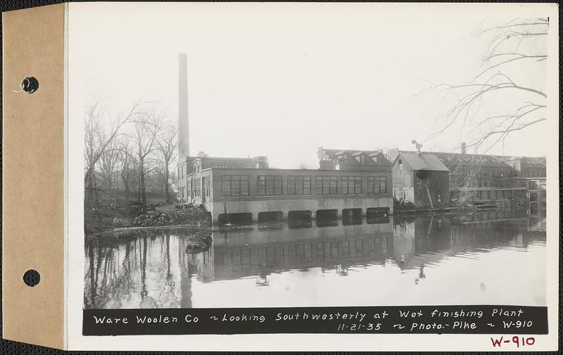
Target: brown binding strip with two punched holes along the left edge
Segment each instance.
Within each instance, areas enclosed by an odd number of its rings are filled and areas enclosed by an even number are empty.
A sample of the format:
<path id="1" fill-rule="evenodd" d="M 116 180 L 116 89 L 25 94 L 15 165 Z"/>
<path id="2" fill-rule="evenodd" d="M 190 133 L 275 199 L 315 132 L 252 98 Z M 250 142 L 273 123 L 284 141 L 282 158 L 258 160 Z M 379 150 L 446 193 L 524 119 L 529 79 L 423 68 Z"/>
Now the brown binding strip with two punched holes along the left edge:
<path id="1" fill-rule="evenodd" d="M 3 13 L 2 314 L 8 340 L 63 348 L 65 4 Z M 24 77 L 39 80 L 32 94 Z M 23 283 L 35 269 L 39 285 Z"/>

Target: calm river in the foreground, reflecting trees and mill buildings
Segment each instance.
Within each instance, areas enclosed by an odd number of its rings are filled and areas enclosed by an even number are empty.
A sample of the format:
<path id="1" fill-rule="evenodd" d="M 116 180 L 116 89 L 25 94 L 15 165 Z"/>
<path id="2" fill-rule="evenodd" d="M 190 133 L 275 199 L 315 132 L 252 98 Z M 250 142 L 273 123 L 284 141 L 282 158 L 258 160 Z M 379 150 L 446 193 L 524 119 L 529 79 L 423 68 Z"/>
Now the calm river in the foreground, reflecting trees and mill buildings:
<path id="1" fill-rule="evenodd" d="M 301 228 L 296 228 L 301 227 Z M 391 217 L 343 226 L 139 231 L 85 244 L 84 308 L 545 306 L 545 217 Z"/>

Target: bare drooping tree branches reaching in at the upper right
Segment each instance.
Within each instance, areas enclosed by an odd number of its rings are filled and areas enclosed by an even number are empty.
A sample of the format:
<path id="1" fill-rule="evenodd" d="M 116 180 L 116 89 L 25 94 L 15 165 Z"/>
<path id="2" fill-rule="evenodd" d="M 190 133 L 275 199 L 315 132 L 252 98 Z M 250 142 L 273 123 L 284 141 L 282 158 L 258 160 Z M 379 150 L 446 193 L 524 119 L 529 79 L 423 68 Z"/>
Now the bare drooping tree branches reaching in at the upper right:
<path id="1" fill-rule="evenodd" d="M 459 129 L 460 136 L 474 134 L 467 147 L 484 154 L 512 132 L 545 121 L 547 93 L 521 74 L 543 70 L 548 29 L 548 18 L 536 18 L 478 30 L 476 39 L 486 43 L 481 70 L 462 84 L 441 83 L 421 92 L 453 98 L 437 119 L 441 128 L 427 139 Z"/>

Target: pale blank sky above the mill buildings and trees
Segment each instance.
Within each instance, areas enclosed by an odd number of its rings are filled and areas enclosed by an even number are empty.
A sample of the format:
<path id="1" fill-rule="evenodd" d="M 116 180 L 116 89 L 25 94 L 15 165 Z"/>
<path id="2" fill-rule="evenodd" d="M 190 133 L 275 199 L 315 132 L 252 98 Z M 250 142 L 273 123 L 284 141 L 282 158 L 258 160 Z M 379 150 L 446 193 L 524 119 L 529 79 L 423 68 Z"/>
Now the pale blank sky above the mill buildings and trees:
<path id="1" fill-rule="evenodd" d="M 417 93 L 473 77 L 484 49 L 476 30 L 541 15 L 530 5 L 70 4 L 69 117 L 84 120 L 96 100 L 112 117 L 142 97 L 177 122 L 182 52 L 192 155 L 267 155 L 272 167 L 315 169 L 319 146 L 414 149 L 415 139 L 455 152 L 472 136 L 454 129 L 426 140 L 450 106 Z M 533 68 L 513 70 L 545 87 L 545 66 Z M 546 127 L 489 153 L 545 155 Z"/>

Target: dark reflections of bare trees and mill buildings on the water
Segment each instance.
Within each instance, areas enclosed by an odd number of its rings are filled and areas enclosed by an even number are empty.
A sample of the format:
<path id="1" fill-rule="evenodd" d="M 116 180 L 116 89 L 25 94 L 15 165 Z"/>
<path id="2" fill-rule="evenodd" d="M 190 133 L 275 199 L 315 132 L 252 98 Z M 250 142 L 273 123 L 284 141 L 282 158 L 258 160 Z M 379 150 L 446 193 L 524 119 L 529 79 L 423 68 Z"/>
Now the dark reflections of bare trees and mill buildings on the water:
<path id="1" fill-rule="evenodd" d="M 271 285 L 270 276 L 286 272 L 319 270 L 310 282 L 322 283 L 322 275 L 348 279 L 367 267 L 391 265 L 403 273 L 417 270 L 419 284 L 427 266 L 453 255 L 503 245 L 526 248 L 529 240 L 545 240 L 545 219 L 524 216 L 491 211 L 463 220 L 443 215 L 348 226 L 254 226 L 215 232 L 213 245 L 198 254 L 186 252 L 189 233 L 182 230 L 89 240 L 84 308 L 191 308 L 194 283 L 251 278 L 261 288 Z M 224 292 L 238 287 L 224 285 Z"/>

